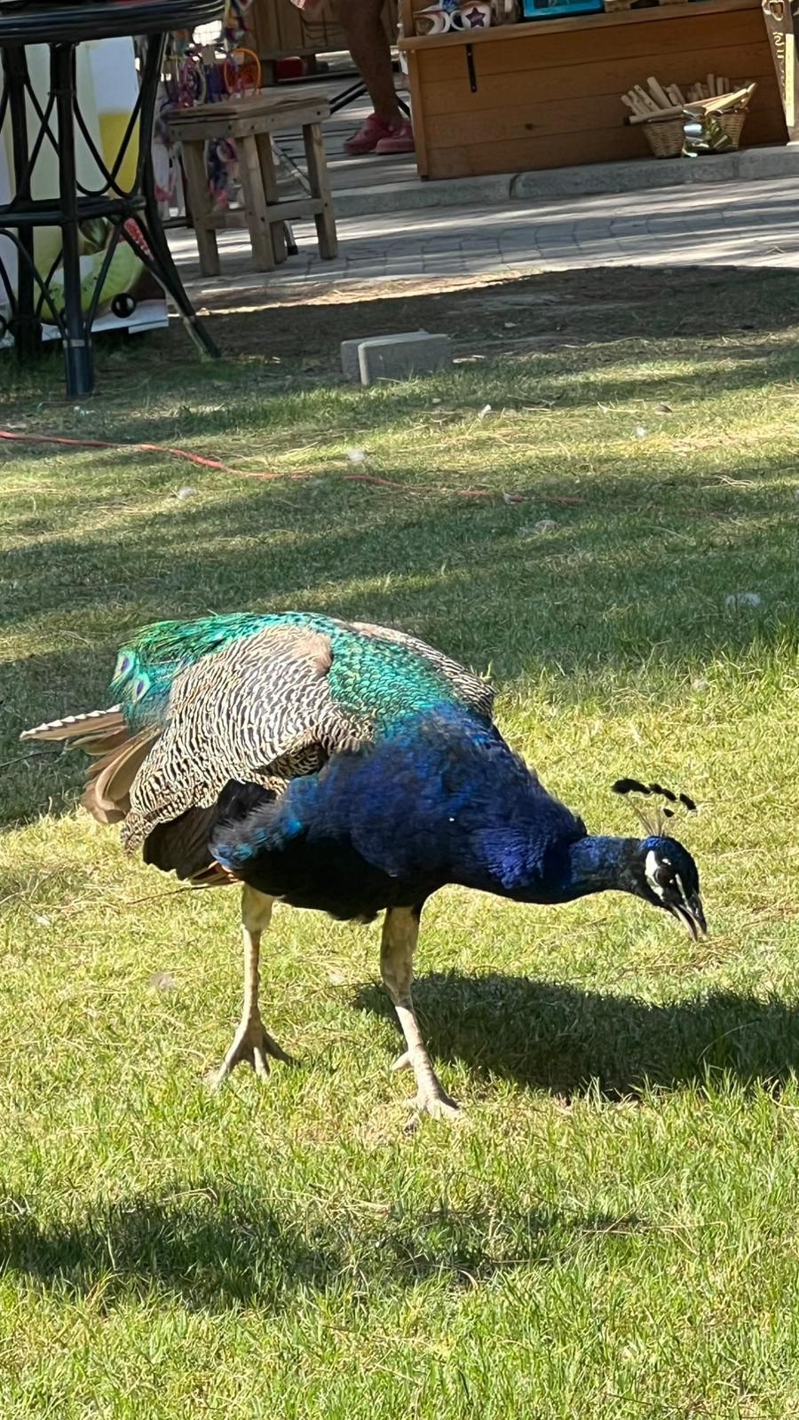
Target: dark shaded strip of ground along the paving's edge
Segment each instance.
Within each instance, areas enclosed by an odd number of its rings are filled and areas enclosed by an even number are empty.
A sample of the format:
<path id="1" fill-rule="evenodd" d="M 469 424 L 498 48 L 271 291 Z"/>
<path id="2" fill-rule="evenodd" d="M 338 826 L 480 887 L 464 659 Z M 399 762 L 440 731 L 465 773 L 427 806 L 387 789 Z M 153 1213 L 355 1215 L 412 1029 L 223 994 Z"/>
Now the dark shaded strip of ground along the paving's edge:
<path id="1" fill-rule="evenodd" d="M 419 327 L 446 331 L 456 354 L 466 359 L 513 358 L 525 346 L 547 354 L 567 346 L 573 359 L 581 345 L 614 339 L 644 338 L 648 344 L 654 338 L 724 338 L 735 332 L 741 339 L 746 331 L 776 332 L 796 322 L 793 280 L 793 273 L 776 268 L 685 267 L 675 261 L 660 267 L 540 271 L 518 278 L 485 273 L 471 285 L 454 284 L 449 290 L 442 290 L 441 283 L 435 287 L 435 277 L 382 284 L 377 293 L 375 283 L 344 283 L 328 291 L 321 283 L 301 291 L 253 283 L 239 298 L 246 311 L 230 312 L 236 297 L 229 291 L 206 294 L 206 305 L 215 338 L 229 358 L 279 361 L 267 366 L 272 378 L 287 373 L 293 361 L 301 373 L 338 376 L 340 341 Z M 414 293 L 414 285 L 421 290 Z M 213 315 L 215 310 L 230 314 Z M 185 345 L 176 344 L 183 342 L 183 332 L 176 325 L 155 339 L 171 344 L 171 359 L 163 361 L 163 378 L 169 381 L 169 365 L 185 359 Z M 596 351 L 590 361 L 596 362 Z M 641 375 L 641 386 L 647 378 Z M 414 403 L 415 398 L 414 390 L 400 392 L 401 400 Z M 584 398 L 576 381 L 566 402 L 581 403 Z M 594 398 L 603 395 L 591 386 L 589 399 Z"/>

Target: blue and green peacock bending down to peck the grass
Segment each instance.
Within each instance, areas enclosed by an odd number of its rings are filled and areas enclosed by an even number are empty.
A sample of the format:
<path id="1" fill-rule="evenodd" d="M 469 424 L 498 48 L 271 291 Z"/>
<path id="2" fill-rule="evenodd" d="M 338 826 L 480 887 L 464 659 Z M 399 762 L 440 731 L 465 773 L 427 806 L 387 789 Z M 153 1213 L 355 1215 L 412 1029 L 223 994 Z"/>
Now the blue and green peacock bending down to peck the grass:
<path id="1" fill-rule="evenodd" d="M 640 811 L 643 839 L 590 835 L 509 748 L 490 686 L 415 636 L 307 612 L 158 622 L 119 650 L 111 693 L 23 740 L 92 757 L 82 804 L 121 824 L 128 853 L 198 888 L 242 885 L 245 1000 L 215 1085 L 242 1061 L 259 1076 L 289 1061 L 259 1007 L 276 900 L 385 912 L 381 976 L 417 1122 L 458 1115 L 411 993 L 422 906 L 445 883 L 543 905 L 617 889 L 707 932 L 674 809 Z M 614 787 L 694 808 L 660 784 Z"/>

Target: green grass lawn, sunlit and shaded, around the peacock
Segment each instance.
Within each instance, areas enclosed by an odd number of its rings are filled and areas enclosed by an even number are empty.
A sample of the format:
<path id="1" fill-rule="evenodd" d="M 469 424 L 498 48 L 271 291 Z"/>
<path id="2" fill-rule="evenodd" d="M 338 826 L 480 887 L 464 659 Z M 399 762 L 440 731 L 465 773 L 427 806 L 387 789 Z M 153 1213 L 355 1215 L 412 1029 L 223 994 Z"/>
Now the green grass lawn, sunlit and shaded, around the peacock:
<path id="1" fill-rule="evenodd" d="M 280 477 L 0 449 L 1 1420 L 799 1416 L 796 277 L 412 305 L 252 312 L 225 365 L 171 332 L 102 355 L 82 408 L 55 365 L 4 400 Z M 454 372 L 331 378 L 409 314 Z M 78 757 L 17 741 L 105 704 L 145 621 L 296 606 L 489 670 L 591 829 L 633 831 L 620 774 L 701 804 L 707 941 L 620 896 L 432 900 L 456 1127 L 402 1133 L 375 927 L 289 909 L 264 1018 L 300 1065 L 210 1095 L 236 893 L 172 895 L 75 809 Z"/>

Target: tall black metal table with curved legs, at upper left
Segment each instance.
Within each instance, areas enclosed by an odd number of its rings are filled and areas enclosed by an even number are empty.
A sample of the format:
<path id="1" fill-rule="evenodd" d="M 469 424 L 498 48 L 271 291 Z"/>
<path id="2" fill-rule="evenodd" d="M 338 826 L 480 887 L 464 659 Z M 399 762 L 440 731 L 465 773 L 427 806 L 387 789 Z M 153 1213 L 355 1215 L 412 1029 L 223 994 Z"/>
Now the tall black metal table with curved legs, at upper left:
<path id="1" fill-rule="evenodd" d="M 55 325 L 64 346 L 67 393 L 87 395 L 94 388 L 91 325 L 117 241 L 134 247 L 146 270 L 172 297 L 189 334 L 209 355 L 219 351 L 183 290 L 158 214 L 152 176 L 152 128 L 161 65 L 166 37 L 173 30 L 191 30 L 222 17 L 223 0 L 0 0 L 0 58 L 3 94 L 0 97 L 0 141 L 4 122 L 11 126 L 14 196 L 0 204 L 0 234 L 17 248 L 17 288 L 0 261 L 10 329 L 20 358 L 38 351 L 43 321 Z M 111 169 L 107 168 L 81 114 L 75 84 L 75 51 L 84 40 L 132 36 L 141 41 L 142 64 L 139 92 L 131 112 L 121 149 Z M 26 47 L 47 44 L 50 48 L 48 95 L 40 101 L 30 81 Z M 36 122 L 28 124 L 28 112 Z M 37 128 L 38 125 L 38 128 Z M 75 168 L 75 132 L 98 168 L 97 186 L 78 180 Z M 44 143 L 58 159 L 58 192 L 33 197 L 31 176 Z M 119 180 L 131 145 L 138 145 L 135 179 L 129 189 Z M 105 260 L 100 266 L 88 302 L 81 294 L 81 229 L 97 219 L 111 226 Z M 135 219 L 136 234 L 129 230 Z M 61 253 L 50 271 L 40 273 L 34 261 L 36 227 L 61 229 Z M 63 271 L 63 308 L 51 288 L 57 268 Z M 85 304 L 85 308 L 84 308 Z M 0 332 L 1 334 L 1 332 Z"/>

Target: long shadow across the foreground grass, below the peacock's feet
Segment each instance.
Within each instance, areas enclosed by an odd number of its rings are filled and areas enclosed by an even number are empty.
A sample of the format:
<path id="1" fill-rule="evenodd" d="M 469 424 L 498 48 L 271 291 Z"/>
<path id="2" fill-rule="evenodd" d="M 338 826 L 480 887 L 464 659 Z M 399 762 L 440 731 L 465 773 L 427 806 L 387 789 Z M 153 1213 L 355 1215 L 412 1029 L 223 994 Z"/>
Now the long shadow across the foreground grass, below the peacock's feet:
<path id="1" fill-rule="evenodd" d="M 159 1295 L 188 1311 L 279 1314 L 299 1294 L 341 1292 L 348 1281 L 358 1291 L 397 1295 L 431 1278 L 473 1287 L 513 1268 L 552 1265 L 579 1245 L 616 1240 L 610 1245 L 624 1248 L 645 1228 L 633 1214 L 509 1211 L 499 1201 L 414 1216 L 397 1208 L 368 1220 L 306 1218 L 297 1227 L 233 1190 L 183 1184 L 68 1223 L 40 1223 L 21 1200 L 6 1200 L 0 1268 L 67 1298 L 91 1294 L 105 1309 Z"/>

